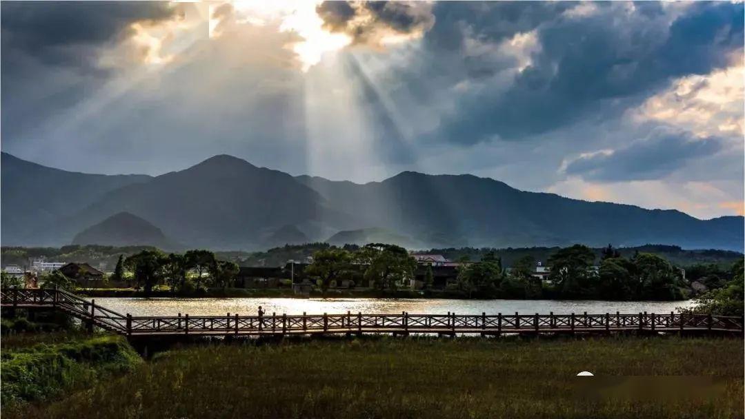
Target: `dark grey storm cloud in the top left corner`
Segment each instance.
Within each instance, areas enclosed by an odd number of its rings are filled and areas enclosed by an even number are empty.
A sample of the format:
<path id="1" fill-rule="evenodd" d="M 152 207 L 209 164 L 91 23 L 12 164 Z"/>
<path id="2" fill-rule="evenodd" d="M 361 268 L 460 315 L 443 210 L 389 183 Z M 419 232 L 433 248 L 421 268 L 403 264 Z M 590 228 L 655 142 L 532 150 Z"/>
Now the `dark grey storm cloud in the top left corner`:
<path id="1" fill-rule="evenodd" d="M 2 135 L 12 141 L 98 89 L 108 74 L 101 48 L 130 24 L 173 10 L 162 1 L 3 1 L 0 12 Z"/>

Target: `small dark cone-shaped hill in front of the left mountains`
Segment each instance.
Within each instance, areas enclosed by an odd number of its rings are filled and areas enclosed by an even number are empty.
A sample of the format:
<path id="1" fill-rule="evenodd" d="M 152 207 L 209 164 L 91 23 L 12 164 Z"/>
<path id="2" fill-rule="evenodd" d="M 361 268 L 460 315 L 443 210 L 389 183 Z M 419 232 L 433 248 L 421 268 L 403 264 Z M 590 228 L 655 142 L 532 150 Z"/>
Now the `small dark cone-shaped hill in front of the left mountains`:
<path id="1" fill-rule="evenodd" d="M 173 250 L 177 246 L 148 221 L 128 212 L 120 212 L 86 228 L 72 239 L 74 245 L 156 246 Z"/>

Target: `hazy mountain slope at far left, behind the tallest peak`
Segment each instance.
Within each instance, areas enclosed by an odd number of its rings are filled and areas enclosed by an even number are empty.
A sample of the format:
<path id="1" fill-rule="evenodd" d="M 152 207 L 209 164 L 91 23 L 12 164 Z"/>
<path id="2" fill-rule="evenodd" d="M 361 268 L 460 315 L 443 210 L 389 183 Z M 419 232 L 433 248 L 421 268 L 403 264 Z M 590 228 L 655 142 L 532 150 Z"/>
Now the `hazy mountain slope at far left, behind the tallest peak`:
<path id="1" fill-rule="evenodd" d="M 53 169 L 1 153 L 1 241 L 4 246 L 69 243 L 34 233 L 39 226 L 75 214 L 122 186 L 148 182 L 146 175 L 95 175 Z"/>

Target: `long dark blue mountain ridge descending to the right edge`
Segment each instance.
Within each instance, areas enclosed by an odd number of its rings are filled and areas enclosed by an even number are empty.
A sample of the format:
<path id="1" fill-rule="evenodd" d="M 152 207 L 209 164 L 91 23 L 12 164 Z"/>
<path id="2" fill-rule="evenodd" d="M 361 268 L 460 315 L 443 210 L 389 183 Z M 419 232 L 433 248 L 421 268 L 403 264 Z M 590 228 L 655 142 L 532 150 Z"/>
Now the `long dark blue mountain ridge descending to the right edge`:
<path id="1" fill-rule="evenodd" d="M 346 208 L 370 225 L 416 237 L 428 246 L 675 243 L 738 251 L 743 247 L 743 217 L 698 220 L 679 211 L 524 192 L 471 175 L 404 172 L 364 185 L 298 179 L 319 191 L 332 207 Z"/>

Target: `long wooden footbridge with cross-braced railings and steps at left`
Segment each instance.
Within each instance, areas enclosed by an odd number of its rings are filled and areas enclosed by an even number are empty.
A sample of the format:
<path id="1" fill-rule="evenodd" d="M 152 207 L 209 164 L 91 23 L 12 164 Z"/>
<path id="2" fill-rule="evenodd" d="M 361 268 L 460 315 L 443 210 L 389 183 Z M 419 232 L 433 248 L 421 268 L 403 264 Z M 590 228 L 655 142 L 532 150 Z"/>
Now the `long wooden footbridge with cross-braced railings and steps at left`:
<path id="1" fill-rule="evenodd" d="M 1 306 L 60 310 L 91 329 L 99 327 L 131 338 L 177 336 L 289 336 L 332 333 L 502 333 L 703 332 L 743 333 L 743 318 L 682 313 L 605 314 L 320 314 L 299 316 L 131 316 L 56 289 L 1 290 Z"/>

